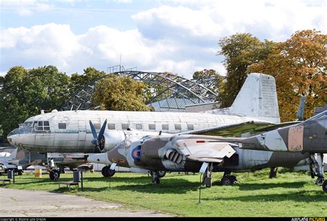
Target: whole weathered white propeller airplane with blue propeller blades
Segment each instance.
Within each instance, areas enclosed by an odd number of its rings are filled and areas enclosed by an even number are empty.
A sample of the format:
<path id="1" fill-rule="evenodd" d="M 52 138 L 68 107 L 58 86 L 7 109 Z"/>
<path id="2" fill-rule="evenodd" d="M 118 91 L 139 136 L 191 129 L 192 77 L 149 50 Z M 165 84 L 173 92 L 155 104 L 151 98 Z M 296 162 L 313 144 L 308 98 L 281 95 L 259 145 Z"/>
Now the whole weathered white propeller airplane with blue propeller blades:
<path id="1" fill-rule="evenodd" d="M 244 131 L 279 123 L 275 78 L 252 73 L 228 108 L 199 113 L 53 110 L 28 118 L 8 134 L 8 141 L 28 151 L 92 154 L 109 151 L 130 136 L 206 131 L 212 127 L 218 136 L 240 136 Z"/>

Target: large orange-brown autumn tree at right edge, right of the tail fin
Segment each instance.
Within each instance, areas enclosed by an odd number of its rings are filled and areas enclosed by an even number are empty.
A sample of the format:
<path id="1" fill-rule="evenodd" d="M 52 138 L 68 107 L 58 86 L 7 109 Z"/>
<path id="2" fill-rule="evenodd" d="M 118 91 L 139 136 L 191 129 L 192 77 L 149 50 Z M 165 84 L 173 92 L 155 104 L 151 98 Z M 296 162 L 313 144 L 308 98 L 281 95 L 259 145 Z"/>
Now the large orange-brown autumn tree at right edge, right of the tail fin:
<path id="1" fill-rule="evenodd" d="M 281 121 L 295 120 L 302 94 L 307 97 L 305 118 L 313 115 L 314 107 L 327 102 L 326 46 L 326 34 L 298 31 L 278 43 L 267 59 L 248 68 L 275 77 Z"/>

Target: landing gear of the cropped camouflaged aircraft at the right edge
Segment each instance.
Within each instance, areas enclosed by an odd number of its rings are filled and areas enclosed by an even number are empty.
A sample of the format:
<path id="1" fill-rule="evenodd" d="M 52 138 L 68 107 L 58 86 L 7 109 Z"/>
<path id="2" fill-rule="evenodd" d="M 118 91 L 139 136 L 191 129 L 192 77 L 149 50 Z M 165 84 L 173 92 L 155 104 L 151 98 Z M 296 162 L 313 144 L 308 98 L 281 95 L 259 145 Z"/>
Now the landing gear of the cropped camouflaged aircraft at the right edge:
<path id="1" fill-rule="evenodd" d="M 317 154 L 317 159 L 315 158 L 315 154 L 310 154 L 310 174 L 311 178 L 315 178 L 317 176 L 317 180 L 315 182 L 316 185 L 322 186 L 322 189 L 327 191 L 327 180 L 324 178 L 324 155 Z"/>

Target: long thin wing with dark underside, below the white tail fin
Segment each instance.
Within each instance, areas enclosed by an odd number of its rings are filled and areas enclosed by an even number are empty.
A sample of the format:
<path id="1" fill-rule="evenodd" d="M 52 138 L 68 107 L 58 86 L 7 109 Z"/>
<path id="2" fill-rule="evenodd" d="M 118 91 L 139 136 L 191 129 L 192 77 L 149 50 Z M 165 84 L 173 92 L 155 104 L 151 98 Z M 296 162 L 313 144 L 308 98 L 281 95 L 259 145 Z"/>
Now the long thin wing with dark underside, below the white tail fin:
<path id="1" fill-rule="evenodd" d="M 230 125 L 222 125 L 217 127 L 208 127 L 205 129 L 197 129 L 192 131 L 186 131 L 180 134 L 199 134 L 199 135 L 211 135 L 211 136 L 228 136 L 235 137 L 240 136 L 246 132 L 260 132 L 260 131 L 271 131 L 279 127 L 287 127 L 300 123 L 299 121 L 273 124 L 267 121 L 246 121 L 243 123 L 235 123 Z"/>

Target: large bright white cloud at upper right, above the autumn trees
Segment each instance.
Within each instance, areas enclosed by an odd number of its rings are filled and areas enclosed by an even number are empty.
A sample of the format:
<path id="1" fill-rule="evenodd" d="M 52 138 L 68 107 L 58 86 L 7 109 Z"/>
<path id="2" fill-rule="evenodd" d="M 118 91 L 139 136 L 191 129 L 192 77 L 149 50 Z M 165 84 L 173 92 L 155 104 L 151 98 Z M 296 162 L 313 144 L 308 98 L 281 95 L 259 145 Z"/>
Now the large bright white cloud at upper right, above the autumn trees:
<path id="1" fill-rule="evenodd" d="M 324 1 L 173 2 L 178 6 L 161 6 L 135 14 L 133 18 L 139 30 L 153 39 L 187 36 L 212 40 L 236 32 L 250 32 L 275 41 L 283 41 L 297 30 L 317 28 L 326 32 Z"/>

